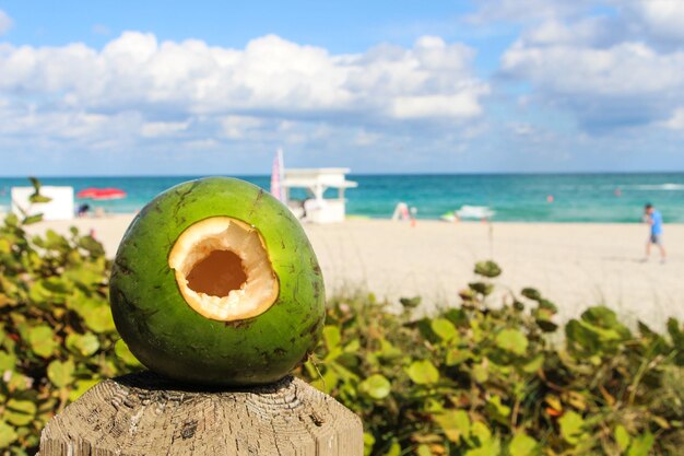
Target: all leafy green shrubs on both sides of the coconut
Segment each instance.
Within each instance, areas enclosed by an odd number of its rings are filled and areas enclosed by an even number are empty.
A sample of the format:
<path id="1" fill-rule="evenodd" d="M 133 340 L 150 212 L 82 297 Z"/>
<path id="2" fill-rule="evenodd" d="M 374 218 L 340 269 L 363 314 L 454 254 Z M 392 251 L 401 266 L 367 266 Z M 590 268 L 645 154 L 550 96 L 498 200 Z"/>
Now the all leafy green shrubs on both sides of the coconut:
<path id="1" fill-rule="evenodd" d="M 38 187 L 39 188 L 39 187 Z M 47 420 L 105 377 L 140 367 L 115 331 L 95 239 L 0 226 L 0 455 L 37 449 Z M 500 268 L 459 305 L 415 318 L 373 295 L 329 303 L 298 375 L 357 412 L 366 455 L 677 454 L 684 447 L 684 328 L 632 331 L 592 307 L 549 342 L 556 306 L 538 290 L 490 306 Z M 527 308 L 527 311 L 526 311 Z M 557 338 L 554 338 L 557 340 Z"/>

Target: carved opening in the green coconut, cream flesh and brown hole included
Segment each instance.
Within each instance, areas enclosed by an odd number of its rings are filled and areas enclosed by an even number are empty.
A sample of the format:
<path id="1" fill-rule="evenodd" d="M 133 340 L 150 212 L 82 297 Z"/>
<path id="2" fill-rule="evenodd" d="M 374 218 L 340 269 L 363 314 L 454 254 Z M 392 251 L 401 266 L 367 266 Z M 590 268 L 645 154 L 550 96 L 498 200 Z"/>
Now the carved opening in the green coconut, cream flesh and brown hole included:
<path id="1" fill-rule="evenodd" d="M 251 318 L 278 299 L 278 278 L 263 238 L 253 226 L 229 217 L 205 219 L 184 231 L 168 266 L 185 301 L 207 318 Z"/>

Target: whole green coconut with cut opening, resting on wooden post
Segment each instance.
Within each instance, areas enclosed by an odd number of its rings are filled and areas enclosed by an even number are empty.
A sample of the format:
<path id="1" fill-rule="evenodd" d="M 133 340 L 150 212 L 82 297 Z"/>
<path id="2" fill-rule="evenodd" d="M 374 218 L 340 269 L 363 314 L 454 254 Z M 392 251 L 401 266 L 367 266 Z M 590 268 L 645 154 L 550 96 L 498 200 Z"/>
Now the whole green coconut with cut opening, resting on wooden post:
<path id="1" fill-rule="evenodd" d="M 184 383 L 275 382 L 306 360 L 323 327 L 323 280 L 302 225 L 234 178 L 184 183 L 145 206 L 109 287 L 135 358 Z"/>

